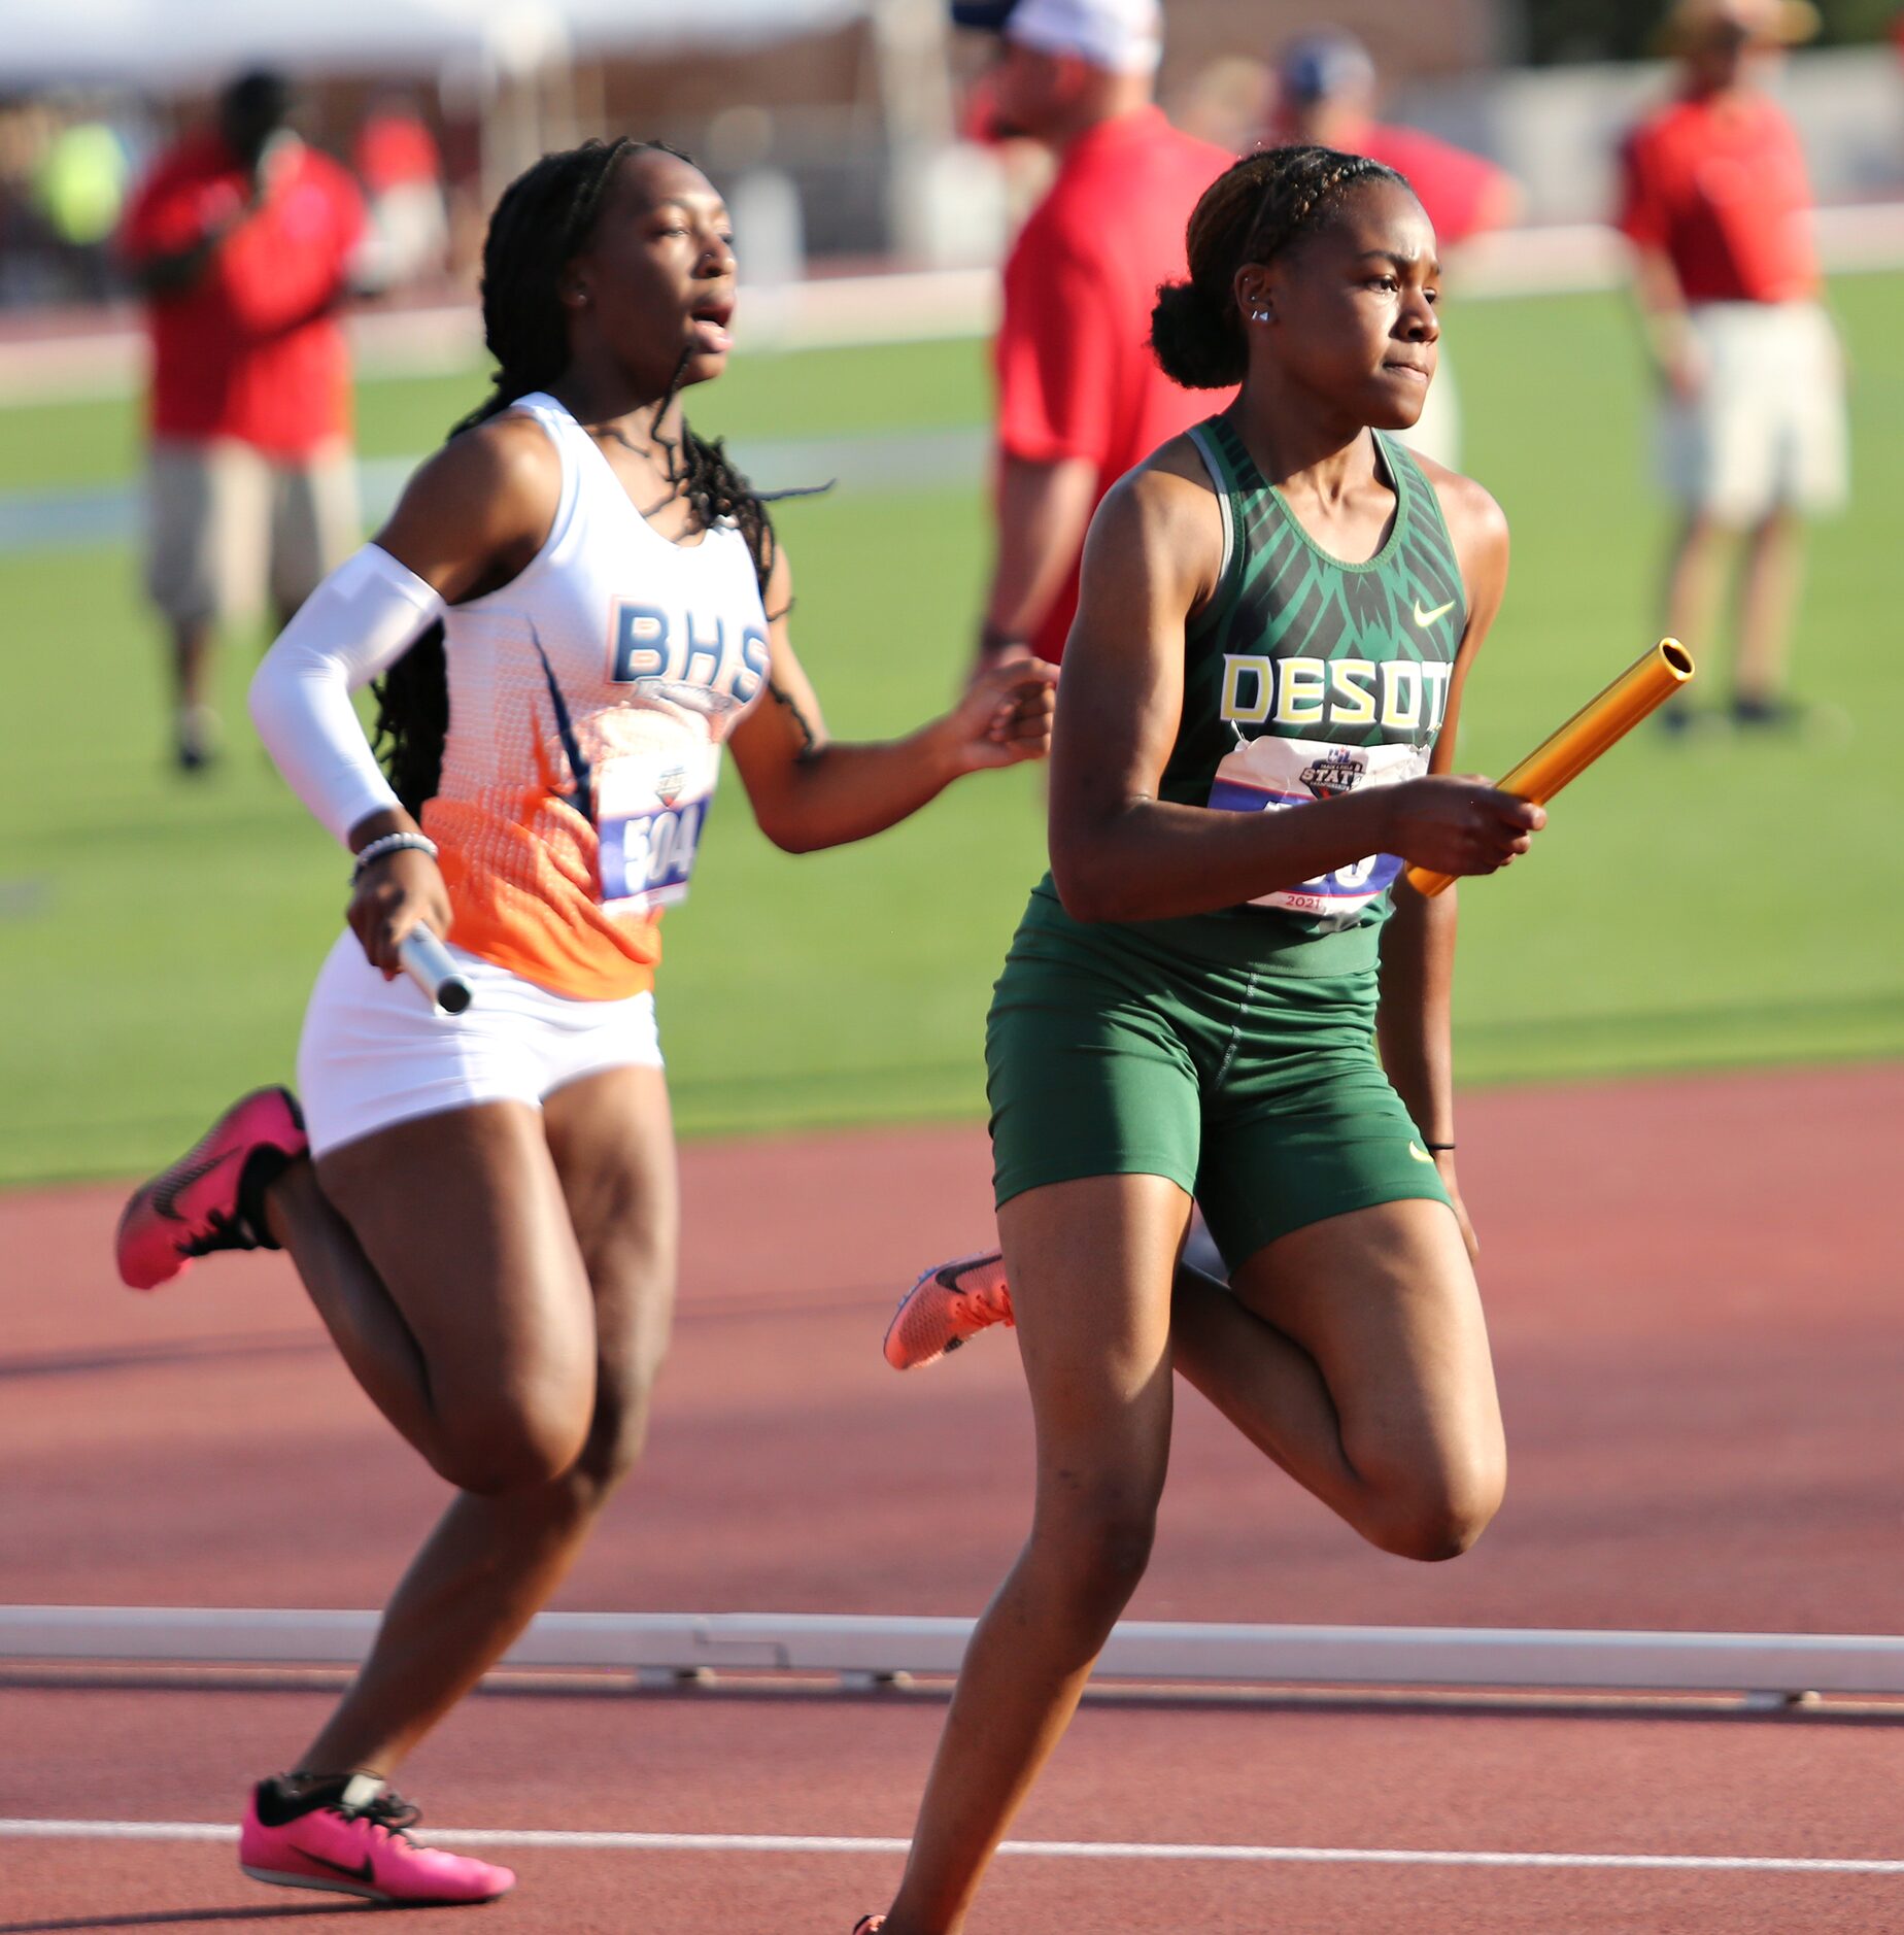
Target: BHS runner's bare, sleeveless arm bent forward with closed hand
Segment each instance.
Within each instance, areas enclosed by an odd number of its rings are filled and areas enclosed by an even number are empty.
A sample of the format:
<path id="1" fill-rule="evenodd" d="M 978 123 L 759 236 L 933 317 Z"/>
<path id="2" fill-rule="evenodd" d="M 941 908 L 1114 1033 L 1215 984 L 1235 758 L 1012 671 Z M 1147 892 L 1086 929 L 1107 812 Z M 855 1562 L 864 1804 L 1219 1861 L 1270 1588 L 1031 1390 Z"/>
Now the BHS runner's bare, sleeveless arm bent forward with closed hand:
<path id="1" fill-rule="evenodd" d="M 1037 662 L 979 673 L 950 712 L 904 739 L 830 739 L 788 635 L 791 600 L 793 575 L 780 551 L 766 586 L 766 693 L 729 741 L 755 819 L 774 846 L 805 853 L 865 840 L 917 813 L 966 772 L 1047 751 L 1055 673 Z"/>

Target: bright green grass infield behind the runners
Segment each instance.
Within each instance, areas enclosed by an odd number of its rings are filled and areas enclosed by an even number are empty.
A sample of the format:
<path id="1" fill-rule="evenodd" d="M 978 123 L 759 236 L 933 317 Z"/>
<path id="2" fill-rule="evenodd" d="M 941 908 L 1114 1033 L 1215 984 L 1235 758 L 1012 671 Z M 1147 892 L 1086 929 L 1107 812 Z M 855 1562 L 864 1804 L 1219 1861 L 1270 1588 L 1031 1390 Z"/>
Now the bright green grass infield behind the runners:
<path id="1" fill-rule="evenodd" d="M 1887 356 L 1904 279 L 1848 279 L 1836 300 L 1858 370 L 1856 505 L 1819 532 L 1798 646 L 1798 685 L 1836 724 L 1794 741 L 1645 733 L 1556 807 L 1534 861 L 1471 886 L 1469 1082 L 1904 1053 L 1904 780 L 1879 724 L 1904 710 L 1889 577 L 1904 375 Z M 1469 468 L 1515 526 L 1463 747 L 1500 770 L 1649 642 L 1660 511 L 1618 300 L 1473 304 L 1449 342 Z M 478 395 L 474 377 L 366 383 L 364 447 L 424 449 Z M 697 422 L 745 443 L 983 408 L 981 348 L 952 342 L 743 360 Z M 135 441 L 126 404 L 4 410 L 0 490 L 124 480 Z M 985 569 L 975 493 L 842 491 L 789 503 L 782 532 L 832 726 L 892 731 L 938 706 Z M 130 550 L 0 553 L 0 1180 L 137 1171 L 238 1087 L 290 1072 L 344 863 L 240 724 L 252 640 L 224 658 L 230 757 L 184 786 L 161 760 Z M 967 780 L 878 842 L 805 859 L 768 848 L 729 784 L 668 923 L 683 1128 L 981 1111 L 985 997 L 1039 867 L 1031 774 Z"/>

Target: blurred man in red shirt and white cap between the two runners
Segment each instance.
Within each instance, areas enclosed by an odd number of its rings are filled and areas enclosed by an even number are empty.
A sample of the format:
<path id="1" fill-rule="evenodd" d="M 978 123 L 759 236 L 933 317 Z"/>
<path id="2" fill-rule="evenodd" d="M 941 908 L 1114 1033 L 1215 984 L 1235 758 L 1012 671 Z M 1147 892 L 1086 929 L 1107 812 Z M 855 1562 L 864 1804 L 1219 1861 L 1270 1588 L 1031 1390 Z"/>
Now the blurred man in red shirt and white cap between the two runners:
<path id="1" fill-rule="evenodd" d="M 956 0 L 952 19 L 998 35 L 993 132 L 1058 155 L 1004 265 L 983 670 L 1062 656 L 1099 499 L 1202 414 L 1157 368 L 1149 313 L 1157 284 L 1184 273 L 1198 195 L 1233 157 L 1175 130 L 1153 99 L 1157 0 Z"/>

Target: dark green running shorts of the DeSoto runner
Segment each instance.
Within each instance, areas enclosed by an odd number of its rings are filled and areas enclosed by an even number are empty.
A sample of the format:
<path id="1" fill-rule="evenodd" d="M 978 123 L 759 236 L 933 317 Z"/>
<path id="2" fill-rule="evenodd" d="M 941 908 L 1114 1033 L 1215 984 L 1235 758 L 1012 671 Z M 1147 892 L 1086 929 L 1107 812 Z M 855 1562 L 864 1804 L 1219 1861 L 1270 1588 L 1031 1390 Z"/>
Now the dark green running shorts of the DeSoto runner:
<path id="1" fill-rule="evenodd" d="M 1324 1217 L 1445 1204 L 1376 1060 L 1368 937 L 1277 933 L 1254 913 L 1084 925 L 1039 884 L 985 1029 L 997 1202 L 1169 1176 L 1233 1269 Z"/>

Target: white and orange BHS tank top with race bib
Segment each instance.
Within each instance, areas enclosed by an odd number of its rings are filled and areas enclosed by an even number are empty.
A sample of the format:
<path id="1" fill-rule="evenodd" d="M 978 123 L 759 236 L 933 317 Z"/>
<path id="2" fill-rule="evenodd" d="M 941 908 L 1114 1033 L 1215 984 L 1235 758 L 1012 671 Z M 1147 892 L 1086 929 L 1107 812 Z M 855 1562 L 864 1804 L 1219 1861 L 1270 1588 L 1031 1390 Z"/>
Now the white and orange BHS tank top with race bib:
<path id="1" fill-rule="evenodd" d="M 424 830 L 451 938 L 580 1000 L 654 981 L 722 739 L 766 685 L 766 611 L 733 524 L 671 544 L 553 399 L 515 404 L 561 457 L 548 540 L 443 619 L 449 733 Z"/>

